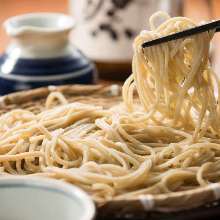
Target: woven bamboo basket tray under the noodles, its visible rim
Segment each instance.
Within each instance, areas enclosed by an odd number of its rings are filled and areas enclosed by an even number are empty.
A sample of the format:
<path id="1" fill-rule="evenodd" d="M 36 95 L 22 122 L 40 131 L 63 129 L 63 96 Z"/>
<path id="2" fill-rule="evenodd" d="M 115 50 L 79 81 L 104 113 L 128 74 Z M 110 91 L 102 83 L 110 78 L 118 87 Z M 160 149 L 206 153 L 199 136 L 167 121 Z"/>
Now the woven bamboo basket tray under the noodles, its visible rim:
<path id="1" fill-rule="evenodd" d="M 70 102 L 95 103 L 104 108 L 109 108 L 122 101 L 121 88 L 117 85 L 49 86 L 0 97 L 0 115 L 16 108 L 38 113 L 44 109 L 45 99 L 52 91 L 62 92 Z M 98 207 L 98 216 L 104 219 L 108 219 L 109 216 L 126 216 L 128 219 L 137 219 L 137 216 L 143 213 L 189 210 L 218 199 L 220 199 L 220 183 L 215 183 L 182 192 L 142 195 L 130 200 L 112 200 L 104 206 Z"/>

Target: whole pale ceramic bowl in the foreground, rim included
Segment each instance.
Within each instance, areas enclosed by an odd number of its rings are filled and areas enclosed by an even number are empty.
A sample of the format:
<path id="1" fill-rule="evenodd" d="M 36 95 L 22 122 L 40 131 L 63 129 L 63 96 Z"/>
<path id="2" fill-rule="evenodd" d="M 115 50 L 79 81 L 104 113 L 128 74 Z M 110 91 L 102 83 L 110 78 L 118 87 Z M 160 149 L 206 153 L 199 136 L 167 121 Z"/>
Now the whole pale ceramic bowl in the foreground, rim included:
<path id="1" fill-rule="evenodd" d="M 2 220 L 91 220 L 94 215 L 94 203 L 78 187 L 46 178 L 0 178 Z"/>

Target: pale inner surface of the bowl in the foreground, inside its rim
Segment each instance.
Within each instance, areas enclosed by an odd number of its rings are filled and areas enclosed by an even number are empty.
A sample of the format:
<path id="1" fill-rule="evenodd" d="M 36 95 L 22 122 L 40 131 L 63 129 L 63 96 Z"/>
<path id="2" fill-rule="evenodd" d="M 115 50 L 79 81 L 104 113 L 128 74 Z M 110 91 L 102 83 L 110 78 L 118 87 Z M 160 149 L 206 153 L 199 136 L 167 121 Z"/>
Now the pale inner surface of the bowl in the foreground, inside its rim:
<path id="1" fill-rule="evenodd" d="M 42 194 L 44 199 L 42 200 Z M 16 198 L 15 196 L 16 195 Z M 24 195 L 25 198 L 24 198 Z M 82 217 L 82 205 L 63 194 L 36 188 L 5 188 L 0 191 L 1 198 L 13 198 L 5 201 L 0 207 L 0 219 L 5 220 L 38 220 L 40 211 L 44 218 L 53 220 L 72 220 L 72 212 Z M 34 198 L 34 199 L 33 199 Z M 11 208 L 13 207 L 13 212 Z M 8 216 L 10 213 L 10 216 Z"/>

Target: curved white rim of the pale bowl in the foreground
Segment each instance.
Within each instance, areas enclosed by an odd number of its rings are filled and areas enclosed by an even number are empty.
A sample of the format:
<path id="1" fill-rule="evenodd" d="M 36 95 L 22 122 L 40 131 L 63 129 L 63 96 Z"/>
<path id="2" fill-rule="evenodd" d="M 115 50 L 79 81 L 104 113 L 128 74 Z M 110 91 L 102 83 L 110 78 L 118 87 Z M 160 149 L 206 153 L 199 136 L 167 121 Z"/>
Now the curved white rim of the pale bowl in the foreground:
<path id="1" fill-rule="evenodd" d="M 29 187 L 61 193 L 71 199 L 75 197 L 84 206 L 83 216 L 80 220 L 92 220 L 95 217 L 95 205 L 90 196 L 79 187 L 61 180 L 48 177 L 4 176 L 0 178 L 0 189 L 3 187 Z"/>

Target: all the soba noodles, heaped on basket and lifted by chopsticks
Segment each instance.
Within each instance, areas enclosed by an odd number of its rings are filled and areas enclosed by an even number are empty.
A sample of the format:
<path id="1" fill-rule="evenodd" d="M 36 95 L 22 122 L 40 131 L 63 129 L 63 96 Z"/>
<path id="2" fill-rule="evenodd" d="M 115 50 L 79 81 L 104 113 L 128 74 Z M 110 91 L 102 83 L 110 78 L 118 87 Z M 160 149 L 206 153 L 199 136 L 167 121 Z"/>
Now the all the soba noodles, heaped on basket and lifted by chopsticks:
<path id="1" fill-rule="evenodd" d="M 134 41 L 124 104 L 103 109 L 52 92 L 38 114 L 2 115 L 0 173 L 62 179 L 98 204 L 218 182 L 220 90 L 208 61 L 213 32 L 142 49 L 195 24 L 159 12 L 150 26 Z M 55 100 L 60 105 L 53 107 Z"/>

